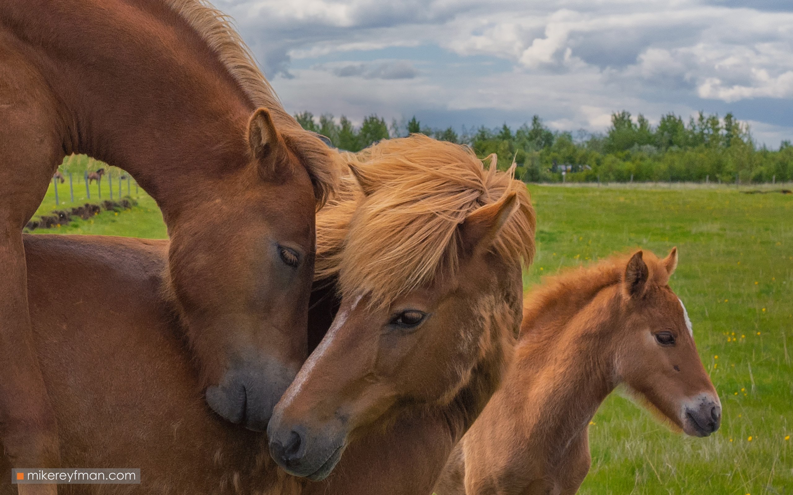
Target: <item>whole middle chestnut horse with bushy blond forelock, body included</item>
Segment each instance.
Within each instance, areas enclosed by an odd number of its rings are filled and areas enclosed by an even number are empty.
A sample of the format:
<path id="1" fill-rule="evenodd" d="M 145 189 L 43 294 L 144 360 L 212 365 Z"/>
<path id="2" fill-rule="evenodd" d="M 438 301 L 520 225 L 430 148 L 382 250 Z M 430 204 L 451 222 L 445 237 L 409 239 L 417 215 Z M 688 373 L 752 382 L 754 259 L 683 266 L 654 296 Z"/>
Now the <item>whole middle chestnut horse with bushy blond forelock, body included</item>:
<path id="1" fill-rule="evenodd" d="M 286 475 L 272 462 L 270 450 L 278 447 L 268 446 L 266 436 L 220 421 L 201 402 L 200 373 L 183 343 L 187 329 L 169 293 L 159 291 L 167 283 L 161 275 L 167 242 L 27 236 L 35 345 L 56 405 L 64 465 L 140 467 L 141 485 L 117 485 L 118 493 L 370 495 L 385 486 L 389 493 L 429 493 L 509 359 L 522 312 L 521 260 L 528 263 L 534 253 L 534 211 L 520 181 L 493 166 L 484 169 L 464 147 L 413 136 L 350 158 L 357 180 L 346 177 L 339 196 L 317 216 L 317 286 L 346 280 L 362 288 L 340 287 L 342 310 L 306 366 L 328 369 L 334 363 L 324 362 L 327 353 L 340 350 L 336 339 L 359 340 L 352 358 L 336 362 L 338 371 L 328 379 L 376 386 L 366 400 L 371 406 L 381 401 L 381 414 L 367 410 L 369 424 L 358 416 L 347 420 L 354 435 L 341 460 L 333 458 L 333 465 L 339 461 L 334 474 L 322 482 Z M 385 226 L 400 235 L 383 235 Z M 397 270 L 387 279 L 345 272 L 353 255 L 347 249 L 362 244 L 372 249 L 371 266 L 389 266 L 383 261 L 392 258 Z M 427 259 L 434 265 L 425 265 Z M 373 283 L 394 294 L 413 288 L 390 308 L 361 298 L 348 309 L 347 291 L 370 294 Z M 102 308 L 79 304 L 110 287 L 116 297 Z M 53 310 L 53 294 L 64 292 L 77 304 Z M 370 318 L 385 311 L 387 320 L 369 328 L 361 310 Z M 429 316 L 416 322 L 413 313 Z M 310 319 L 320 317 L 314 308 Z M 357 328 L 348 327 L 354 322 Z M 374 365 L 377 381 L 359 378 L 362 364 Z M 345 367 L 346 378 L 339 374 Z M 323 379 L 303 376 L 309 390 Z M 389 384 L 401 389 L 377 397 Z M 324 400 L 335 393 L 328 390 Z M 300 398 L 291 394 L 289 402 L 297 406 Z M 282 413 L 282 425 L 285 419 Z M 11 493 L 2 483 L 0 493 Z"/>

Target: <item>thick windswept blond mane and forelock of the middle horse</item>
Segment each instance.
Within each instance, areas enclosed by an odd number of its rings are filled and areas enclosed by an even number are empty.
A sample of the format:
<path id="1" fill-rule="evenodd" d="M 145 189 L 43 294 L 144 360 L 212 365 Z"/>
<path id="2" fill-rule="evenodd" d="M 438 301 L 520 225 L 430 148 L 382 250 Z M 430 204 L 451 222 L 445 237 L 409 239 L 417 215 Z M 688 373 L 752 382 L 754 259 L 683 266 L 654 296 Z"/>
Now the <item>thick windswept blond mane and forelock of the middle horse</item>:
<path id="1" fill-rule="evenodd" d="M 534 209 L 512 170 L 485 169 L 469 147 L 424 135 L 387 139 L 347 154 L 356 177 L 317 214 L 316 279 L 339 277 L 342 295 L 387 303 L 454 274 L 462 256 L 459 225 L 477 208 L 516 192 L 518 208 L 491 247 L 507 263 L 534 257 Z M 357 180 L 356 180 L 357 179 Z"/>

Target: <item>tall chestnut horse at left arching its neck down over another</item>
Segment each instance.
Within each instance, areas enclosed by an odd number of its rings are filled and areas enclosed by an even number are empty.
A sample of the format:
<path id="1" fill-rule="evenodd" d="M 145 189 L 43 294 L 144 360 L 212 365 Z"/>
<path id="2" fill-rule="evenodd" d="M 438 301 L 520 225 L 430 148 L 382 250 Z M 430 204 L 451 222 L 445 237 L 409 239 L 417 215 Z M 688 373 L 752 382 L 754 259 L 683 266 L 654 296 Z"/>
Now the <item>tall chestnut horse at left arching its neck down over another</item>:
<path id="1" fill-rule="evenodd" d="M 59 464 L 21 230 L 71 153 L 125 169 L 162 208 L 167 287 L 206 399 L 265 428 L 305 360 L 314 215 L 335 152 L 203 0 L 0 2 L 0 82 L 0 440 L 13 465 Z"/>

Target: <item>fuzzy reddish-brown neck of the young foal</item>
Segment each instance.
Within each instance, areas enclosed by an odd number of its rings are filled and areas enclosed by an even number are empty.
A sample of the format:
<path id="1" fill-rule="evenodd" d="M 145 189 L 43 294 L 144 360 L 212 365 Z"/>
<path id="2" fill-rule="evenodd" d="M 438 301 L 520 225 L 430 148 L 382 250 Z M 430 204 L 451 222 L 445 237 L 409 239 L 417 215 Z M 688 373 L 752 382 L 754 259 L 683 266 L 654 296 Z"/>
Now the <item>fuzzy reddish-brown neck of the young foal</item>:
<path id="1" fill-rule="evenodd" d="M 523 434 L 533 444 L 557 449 L 557 455 L 586 432 L 618 383 L 610 336 L 621 319 L 619 286 L 604 288 L 572 317 L 560 319 L 564 322 L 558 326 L 523 333 L 499 392 L 508 402 L 519 402 L 529 430 Z"/>

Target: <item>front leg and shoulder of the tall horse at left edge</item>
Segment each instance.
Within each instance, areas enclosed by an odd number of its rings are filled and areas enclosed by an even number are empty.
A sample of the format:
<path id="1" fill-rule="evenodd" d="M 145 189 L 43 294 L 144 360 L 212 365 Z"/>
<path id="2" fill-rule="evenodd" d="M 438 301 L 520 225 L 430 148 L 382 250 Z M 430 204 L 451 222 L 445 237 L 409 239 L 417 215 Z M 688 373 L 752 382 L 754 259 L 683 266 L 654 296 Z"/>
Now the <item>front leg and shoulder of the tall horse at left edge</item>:
<path id="1" fill-rule="evenodd" d="M 0 442 L 13 467 L 58 467 L 56 416 L 33 345 L 22 227 L 63 160 L 63 140 L 47 83 L 12 47 L 0 29 Z M 56 493 L 56 485 L 18 487 Z"/>

